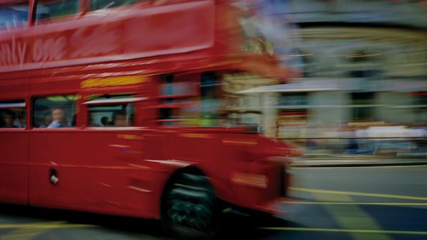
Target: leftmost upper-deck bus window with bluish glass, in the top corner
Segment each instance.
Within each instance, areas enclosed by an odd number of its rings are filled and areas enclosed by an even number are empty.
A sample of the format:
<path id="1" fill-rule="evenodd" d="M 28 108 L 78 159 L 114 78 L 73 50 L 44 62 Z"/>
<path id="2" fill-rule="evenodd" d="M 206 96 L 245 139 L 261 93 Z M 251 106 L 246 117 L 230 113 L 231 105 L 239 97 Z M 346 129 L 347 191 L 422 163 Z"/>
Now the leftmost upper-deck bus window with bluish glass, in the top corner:
<path id="1" fill-rule="evenodd" d="M 25 25 L 28 13 L 28 4 L 0 6 L 0 31 Z"/>

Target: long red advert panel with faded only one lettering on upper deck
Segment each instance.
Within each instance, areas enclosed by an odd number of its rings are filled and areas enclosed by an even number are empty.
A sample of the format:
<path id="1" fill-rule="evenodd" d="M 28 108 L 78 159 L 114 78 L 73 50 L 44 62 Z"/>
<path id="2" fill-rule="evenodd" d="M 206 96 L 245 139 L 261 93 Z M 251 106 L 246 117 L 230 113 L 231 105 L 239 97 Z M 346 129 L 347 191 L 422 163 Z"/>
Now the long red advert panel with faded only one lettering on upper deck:
<path id="1" fill-rule="evenodd" d="M 2 31 L 0 71 L 146 58 L 210 48 L 214 44 L 214 9 L 213 1 L 130 6 Z"/>

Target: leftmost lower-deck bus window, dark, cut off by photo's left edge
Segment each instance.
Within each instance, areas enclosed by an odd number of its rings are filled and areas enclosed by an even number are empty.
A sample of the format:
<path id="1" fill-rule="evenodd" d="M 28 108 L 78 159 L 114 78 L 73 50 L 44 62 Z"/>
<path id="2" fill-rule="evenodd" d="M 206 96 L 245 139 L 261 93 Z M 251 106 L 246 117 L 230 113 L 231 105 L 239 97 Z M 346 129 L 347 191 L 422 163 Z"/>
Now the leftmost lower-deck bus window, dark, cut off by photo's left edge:
<path id="1" fill-rule="evenodd" d="M 25 128 L 25 102 L 0 102 L 0 128 Z"/>

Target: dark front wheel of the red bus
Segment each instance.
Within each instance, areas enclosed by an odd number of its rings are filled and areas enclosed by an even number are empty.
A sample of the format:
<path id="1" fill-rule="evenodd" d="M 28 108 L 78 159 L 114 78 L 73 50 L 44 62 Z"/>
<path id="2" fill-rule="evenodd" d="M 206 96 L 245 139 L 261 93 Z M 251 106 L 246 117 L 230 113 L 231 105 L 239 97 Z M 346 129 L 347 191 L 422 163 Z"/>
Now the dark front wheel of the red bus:
<path id="1" fill-rule="evenodd" d="M 165 196 L 162 224 L 179 239 L 212 239 L 218 231 L 216 202 L 205 176 L 182 173 Z"/>

